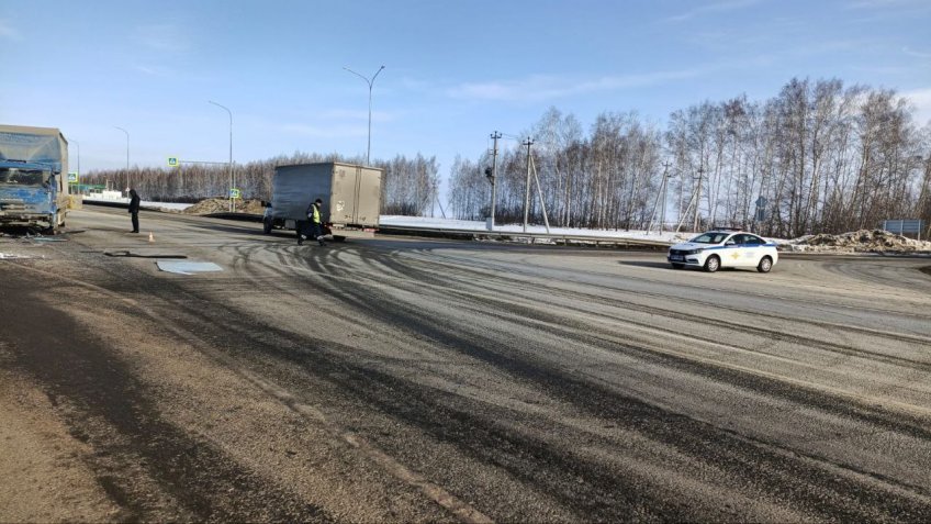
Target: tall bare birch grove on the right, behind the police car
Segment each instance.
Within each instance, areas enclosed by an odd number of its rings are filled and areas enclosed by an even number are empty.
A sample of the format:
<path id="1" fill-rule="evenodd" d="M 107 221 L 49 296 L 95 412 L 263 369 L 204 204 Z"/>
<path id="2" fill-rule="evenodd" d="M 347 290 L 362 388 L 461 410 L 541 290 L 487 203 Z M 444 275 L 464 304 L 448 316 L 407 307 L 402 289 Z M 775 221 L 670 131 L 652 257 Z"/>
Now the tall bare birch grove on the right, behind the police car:
<path id="1" fill-rule="evenodd" d="M 740 96 L 674 111 L 665 130 L 636 113 L 604 112 L 587 135 L 573 115 L 550 108 L 525 136 L 536 140 L 534 164 L 557 226 L 646 228 L 664 165 L 666 216 L 680 230 L 794 237 L 883 220 L 931 223 L 931 123 L 917 122 L 893 90 L 794 78 L 770 100 Z M 487 153 L 457 160 L 456 218 L 487 215 Z M 497 223 L 523 221 L 525 190 L 526 148 L 512 141 L 498 157 Z M 542 223 L 537 199 L 529 215 Z"/>

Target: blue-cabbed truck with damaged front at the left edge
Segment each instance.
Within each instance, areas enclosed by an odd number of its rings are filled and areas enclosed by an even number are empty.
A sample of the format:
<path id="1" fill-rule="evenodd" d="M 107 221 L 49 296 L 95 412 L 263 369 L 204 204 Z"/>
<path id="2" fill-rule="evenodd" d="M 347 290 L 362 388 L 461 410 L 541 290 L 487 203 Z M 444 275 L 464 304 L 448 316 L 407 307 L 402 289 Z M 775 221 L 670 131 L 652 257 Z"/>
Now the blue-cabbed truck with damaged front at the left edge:
<path id="1" fill-rule="evenodd" d="M 0 226 L 55 234 L 68 213 L 68 141 L 54 127 L 0 125 Z"/>

